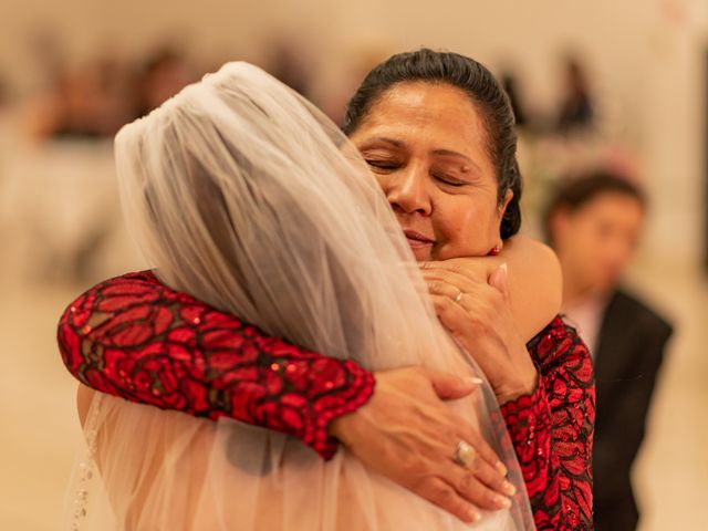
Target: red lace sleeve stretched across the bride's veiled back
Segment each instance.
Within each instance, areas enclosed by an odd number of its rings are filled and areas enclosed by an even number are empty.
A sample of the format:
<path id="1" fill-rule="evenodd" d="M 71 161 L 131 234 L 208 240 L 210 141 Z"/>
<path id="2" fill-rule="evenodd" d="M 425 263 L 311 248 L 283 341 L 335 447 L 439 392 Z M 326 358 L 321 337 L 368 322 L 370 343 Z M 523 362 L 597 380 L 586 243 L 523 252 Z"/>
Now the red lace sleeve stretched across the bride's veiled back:
<path id="1" fill-rule="evenodd" d="M 374 377 L 308 352 L 160 284 L 150 272 L 107 280 L 59 323 L 64 364 L 83 384 L 132 402 L 228 416 L 336 451 L 327 425 L 365 404 Z"/>

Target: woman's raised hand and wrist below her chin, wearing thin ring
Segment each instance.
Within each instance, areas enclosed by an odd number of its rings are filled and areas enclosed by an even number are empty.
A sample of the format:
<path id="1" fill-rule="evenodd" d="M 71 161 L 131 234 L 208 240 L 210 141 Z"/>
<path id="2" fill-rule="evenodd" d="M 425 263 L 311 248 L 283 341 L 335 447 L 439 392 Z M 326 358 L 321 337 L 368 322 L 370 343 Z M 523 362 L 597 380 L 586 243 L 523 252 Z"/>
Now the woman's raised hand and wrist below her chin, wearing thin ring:
<path id="1" fill-rule="evenodd" d="M 421 266 L 440 322 L 489 379 L 499 404 L 530 394 L 538 374 L 509 303 L 506 266 L 481 282 L 460 263 Z"/>

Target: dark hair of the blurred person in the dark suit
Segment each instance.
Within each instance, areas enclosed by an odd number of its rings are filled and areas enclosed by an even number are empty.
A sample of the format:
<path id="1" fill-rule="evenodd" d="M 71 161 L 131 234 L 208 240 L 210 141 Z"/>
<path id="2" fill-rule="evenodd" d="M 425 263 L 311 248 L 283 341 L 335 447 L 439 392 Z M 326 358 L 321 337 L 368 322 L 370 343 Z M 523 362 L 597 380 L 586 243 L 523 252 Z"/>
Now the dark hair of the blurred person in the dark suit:
<path id="1" fill-rule="evenodd" d="M 546 241 L 553 244 L 551 225 L 553 216 L 565 210 L 574 212 L 605 194 L 621 194 L 632 197 L 646 208 L 644 191 L 631 180 L 620 177 L 606 169 L 594 169 L 584 174 L 566 177 L 551 192 L 550 200 L 543 211 L 543 232 Z"/>

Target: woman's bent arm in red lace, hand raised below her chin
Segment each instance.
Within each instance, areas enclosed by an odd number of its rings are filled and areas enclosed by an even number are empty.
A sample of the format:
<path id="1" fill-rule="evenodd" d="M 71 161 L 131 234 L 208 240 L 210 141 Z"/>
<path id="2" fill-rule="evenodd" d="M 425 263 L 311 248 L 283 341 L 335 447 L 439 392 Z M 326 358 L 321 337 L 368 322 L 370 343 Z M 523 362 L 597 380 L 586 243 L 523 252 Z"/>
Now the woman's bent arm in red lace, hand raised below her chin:
<path id="1" fill-rule="evenodd" d="M 489 283 L 437 264 L 425 275 L 440 321 L 501 404 L 538 529 L 592 529 L 595 393 L 587 348 L 560 319 L 524 345 L 503 270 Z"/>

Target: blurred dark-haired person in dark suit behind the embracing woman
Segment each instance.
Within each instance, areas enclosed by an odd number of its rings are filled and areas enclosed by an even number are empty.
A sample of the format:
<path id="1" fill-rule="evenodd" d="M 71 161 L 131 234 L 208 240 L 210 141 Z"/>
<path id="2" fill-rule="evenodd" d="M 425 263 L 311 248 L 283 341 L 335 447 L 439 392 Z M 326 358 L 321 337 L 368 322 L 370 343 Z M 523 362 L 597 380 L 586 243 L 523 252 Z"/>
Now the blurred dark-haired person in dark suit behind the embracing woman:
<path id="1" fill-rule="evenodd" d="M 562 181 L 544 229 L 561 261 L 563 312 L 594 358 L 597 418 L 593 451 L 597 531 L 634 530 L 631 469 L 671 325 L 622 287 L 646 215 L 644 192 L 605 171 Z"/>

